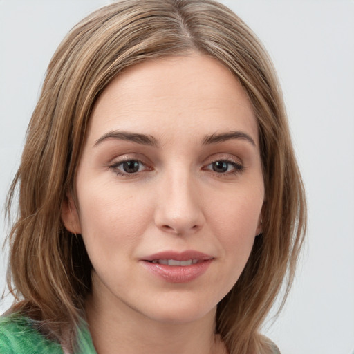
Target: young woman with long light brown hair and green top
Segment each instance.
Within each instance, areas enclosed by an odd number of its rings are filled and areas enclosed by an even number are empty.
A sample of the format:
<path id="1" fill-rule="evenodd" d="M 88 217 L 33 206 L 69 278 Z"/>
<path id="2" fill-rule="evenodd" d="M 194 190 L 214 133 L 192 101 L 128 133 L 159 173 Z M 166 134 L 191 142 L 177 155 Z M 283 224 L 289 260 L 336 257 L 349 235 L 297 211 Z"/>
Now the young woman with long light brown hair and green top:
<path id="1" fill-rule="evenodd" d="M 306 224 L 274 70 L 213 1 L 93 12 L 48 66 L 21 165 L 10 353 L 277 353 Z"/>

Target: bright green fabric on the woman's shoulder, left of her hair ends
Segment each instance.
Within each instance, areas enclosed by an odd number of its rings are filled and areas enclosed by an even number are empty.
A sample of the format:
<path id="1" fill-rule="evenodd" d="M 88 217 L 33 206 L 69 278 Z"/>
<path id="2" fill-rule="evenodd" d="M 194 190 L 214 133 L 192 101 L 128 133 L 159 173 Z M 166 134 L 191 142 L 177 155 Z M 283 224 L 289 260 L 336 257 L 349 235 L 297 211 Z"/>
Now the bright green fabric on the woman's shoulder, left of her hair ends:
<path id="1" fill-rule="evenodd" d="M 41 335 L 27 317 L 8 315 L 0 317 L 0 353 L 62 354 L 63 351 L 59 344 Z"/>

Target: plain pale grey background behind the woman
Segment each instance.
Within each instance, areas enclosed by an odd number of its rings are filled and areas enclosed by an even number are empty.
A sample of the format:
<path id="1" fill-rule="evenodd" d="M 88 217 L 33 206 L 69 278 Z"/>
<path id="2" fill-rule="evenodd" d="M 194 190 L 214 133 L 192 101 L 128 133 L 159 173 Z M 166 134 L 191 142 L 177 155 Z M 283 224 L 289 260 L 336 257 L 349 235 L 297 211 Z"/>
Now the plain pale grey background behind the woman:
<path id="1" fill-rule="evenodd" d="M 51 55 L 77 21 L 109 2 L 0 0 L 1 206 Z M 250 25 L 274 60 L 308 194 L 308 240 L 297 279 L 286 308 L 264 333 L 283 354 L 349 354 L 354 349 L 354 1 L 222 2 Z M 0 290 L 5 259 L 1 254 Z M 9 302 L 1 302 L 0 312 Z"/>

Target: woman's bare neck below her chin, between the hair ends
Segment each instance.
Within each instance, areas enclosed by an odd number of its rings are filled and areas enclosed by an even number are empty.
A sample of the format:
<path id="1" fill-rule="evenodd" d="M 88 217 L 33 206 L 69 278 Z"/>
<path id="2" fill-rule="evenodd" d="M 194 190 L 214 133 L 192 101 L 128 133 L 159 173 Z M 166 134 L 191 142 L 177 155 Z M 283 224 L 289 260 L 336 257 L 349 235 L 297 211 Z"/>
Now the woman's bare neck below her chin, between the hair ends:
<path id="1" fill-rule="evenodd" d="M 214 334 L 216 308 L 187 323 L 159 322 L 93 293 L 86 301 L 88 326 L 98 354 L 226 353 Z"/>

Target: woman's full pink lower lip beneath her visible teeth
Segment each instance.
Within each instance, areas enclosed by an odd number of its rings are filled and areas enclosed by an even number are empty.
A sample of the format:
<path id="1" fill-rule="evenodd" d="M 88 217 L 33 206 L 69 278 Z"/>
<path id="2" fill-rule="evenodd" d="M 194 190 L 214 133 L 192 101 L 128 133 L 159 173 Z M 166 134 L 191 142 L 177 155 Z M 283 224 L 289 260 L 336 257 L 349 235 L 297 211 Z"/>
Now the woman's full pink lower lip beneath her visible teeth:
<path id="1" fill-rule="evenodd" d="M 157 275 L 168 283 L 189 283 L 194 279 L 201 277 L 207 271 L 207 268 L 212 263 L 212 259 L 202 261 L 200 263 L 178 266 L 165 265 L 142 261 L 142 264 L 151 273 Z"/>

